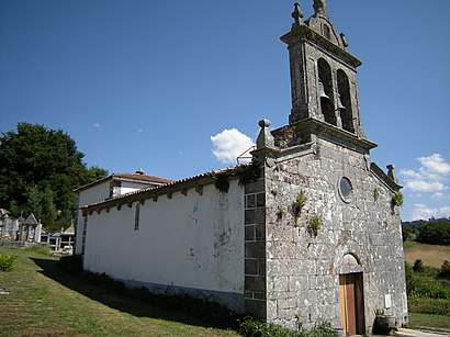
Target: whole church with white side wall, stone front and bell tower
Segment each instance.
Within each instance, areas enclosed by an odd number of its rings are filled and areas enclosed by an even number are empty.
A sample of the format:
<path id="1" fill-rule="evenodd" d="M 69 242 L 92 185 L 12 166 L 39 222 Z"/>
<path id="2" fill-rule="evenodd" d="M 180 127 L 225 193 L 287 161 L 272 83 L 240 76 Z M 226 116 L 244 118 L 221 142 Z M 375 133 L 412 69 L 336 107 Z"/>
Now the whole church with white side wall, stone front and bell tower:
<path id="1" fill-rule="evenodd" d="M 259 122 L 252 162 L 80 205 L 85 268 L 131 285 L 206 296 L 295 328 L 370 334 L 407 319 L 401 186 L 370 161 L 357 67 L 326 3 L 288 45 L 289 124 Z M 82 227 L 81 227 L 82 226 Z M 79 246 L 77 251 L 80 250 Z"/>

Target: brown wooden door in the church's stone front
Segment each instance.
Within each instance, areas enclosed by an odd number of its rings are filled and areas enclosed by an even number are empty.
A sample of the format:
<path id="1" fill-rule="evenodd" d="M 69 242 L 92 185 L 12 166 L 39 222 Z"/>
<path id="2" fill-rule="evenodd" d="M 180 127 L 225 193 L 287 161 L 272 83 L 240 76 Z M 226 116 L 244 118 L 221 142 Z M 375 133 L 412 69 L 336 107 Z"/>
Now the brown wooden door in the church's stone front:
<path id="1" fill-rule="evenodd" d="M 339 276 L 340 324 L 346 336 L 364 333 L 364 306 L 362 297 L 362 274 Z"/>

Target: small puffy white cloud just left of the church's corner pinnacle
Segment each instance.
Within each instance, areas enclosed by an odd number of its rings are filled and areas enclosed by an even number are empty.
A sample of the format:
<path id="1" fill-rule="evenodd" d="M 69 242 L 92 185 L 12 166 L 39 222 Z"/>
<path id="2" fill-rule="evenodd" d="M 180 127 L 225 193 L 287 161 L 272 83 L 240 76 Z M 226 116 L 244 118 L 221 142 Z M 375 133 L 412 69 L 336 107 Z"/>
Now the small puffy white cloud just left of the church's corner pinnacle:
<path id="1" fill-rule="evenodd" d="M 224 130 L 211 137 L 213 155 L 222 162 L 236 164 L 236 158 L 255 145 L 250 137 L 237 128 Z"/>

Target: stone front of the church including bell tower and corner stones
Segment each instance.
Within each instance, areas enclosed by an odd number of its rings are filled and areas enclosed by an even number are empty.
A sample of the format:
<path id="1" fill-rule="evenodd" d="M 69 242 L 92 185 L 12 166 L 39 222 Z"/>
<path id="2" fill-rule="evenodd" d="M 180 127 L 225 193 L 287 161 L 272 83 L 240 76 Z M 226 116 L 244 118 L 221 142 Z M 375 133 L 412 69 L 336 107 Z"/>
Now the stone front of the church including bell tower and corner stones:
<path id="1" fill-rule="evenodd" d="M 251 154 L 262 175 L 245 187 L 245 305 L 267 322 L 338 336 L 371 334 L 383 312 L 392 328 L 407 321 L 400 193 L 389 166 L 362 130 L 357 67 L 325 0 L 281 36 L 288 44 L 292 110 L 272 132 L 259 122 Z M 263 196 L 263 198 L 262 198 Z"/>

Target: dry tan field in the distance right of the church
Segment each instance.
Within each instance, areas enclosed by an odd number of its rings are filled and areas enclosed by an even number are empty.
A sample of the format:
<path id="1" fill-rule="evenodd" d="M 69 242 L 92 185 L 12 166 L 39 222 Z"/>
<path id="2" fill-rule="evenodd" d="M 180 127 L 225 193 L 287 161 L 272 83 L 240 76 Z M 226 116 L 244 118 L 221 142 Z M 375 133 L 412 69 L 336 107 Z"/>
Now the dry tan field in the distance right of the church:
<path id="1" fill-rule="evenodd" d="M 440 268 L 443 260 L 450 261 L 450 246 L 427 245 L 407 241 L 404 246 L 405 259 L 409 263 L 420 259 L 424 265 Z"/>

